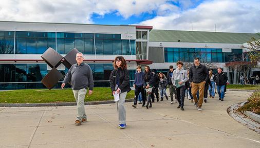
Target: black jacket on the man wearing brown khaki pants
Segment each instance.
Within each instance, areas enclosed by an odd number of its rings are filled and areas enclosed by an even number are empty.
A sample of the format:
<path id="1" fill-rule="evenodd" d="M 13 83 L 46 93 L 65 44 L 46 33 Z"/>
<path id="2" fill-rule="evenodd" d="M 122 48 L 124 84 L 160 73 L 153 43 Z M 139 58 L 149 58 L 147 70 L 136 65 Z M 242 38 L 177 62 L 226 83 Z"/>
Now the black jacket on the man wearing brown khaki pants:
<path id="1" fill-rule="evenodd" d="M 194 83 L 200 83 L 202 81 L 208 81 L 210 79 L 209 77 L 209 71 L 206 68 L 206 66 L 199 65 L 198 68 L 196 68 L 195 65 L 193 65 L 190 69 L 189 74 L 190 82 Z"/>

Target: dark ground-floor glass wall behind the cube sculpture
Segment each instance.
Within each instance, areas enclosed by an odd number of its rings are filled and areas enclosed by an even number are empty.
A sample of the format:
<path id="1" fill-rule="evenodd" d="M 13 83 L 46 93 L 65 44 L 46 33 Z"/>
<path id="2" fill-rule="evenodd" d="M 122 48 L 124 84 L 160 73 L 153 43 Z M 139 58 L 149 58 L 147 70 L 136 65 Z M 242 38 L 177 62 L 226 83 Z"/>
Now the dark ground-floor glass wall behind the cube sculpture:
<path id="1" fill-rule="evenodd" d="M 94 86 L 109 87 L 109 75 L 114 69 L 113 64 L 88 65 L 92 70 Z M 45 88 L 41 80 L 48 73 L 46 64 L 0 64 L 0 71 L 0 90 Z M 66 74 L 68 69 L 60 72 Z M 133 85 L 135 72 L 136 70 L 129 70 L 131 85 Z M 54 88 L 60 88 L 60 85 L 61 82 Z"/>

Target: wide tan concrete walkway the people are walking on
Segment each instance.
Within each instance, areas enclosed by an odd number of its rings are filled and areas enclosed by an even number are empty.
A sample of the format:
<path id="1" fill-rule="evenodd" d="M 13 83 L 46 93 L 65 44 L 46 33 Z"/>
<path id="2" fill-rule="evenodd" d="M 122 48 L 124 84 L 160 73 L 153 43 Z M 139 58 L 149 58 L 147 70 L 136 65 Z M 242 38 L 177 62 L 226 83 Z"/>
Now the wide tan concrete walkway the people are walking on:
<path id="1" fill-rule="evenodd" d="M 72 93 L 72 92 L 71 92 Z M 115 104 L 86 105 L 88 121 L 74 124 L 77 108 L 0 108 L 0 147 L 260 147 L 260 135 L 227 114 L 251 92 L 228 91 L 197 111 L 185 98 L 184 109 L 170 101 L 153 108 L 126 106 L 126 129 L 120 130 Z"/>

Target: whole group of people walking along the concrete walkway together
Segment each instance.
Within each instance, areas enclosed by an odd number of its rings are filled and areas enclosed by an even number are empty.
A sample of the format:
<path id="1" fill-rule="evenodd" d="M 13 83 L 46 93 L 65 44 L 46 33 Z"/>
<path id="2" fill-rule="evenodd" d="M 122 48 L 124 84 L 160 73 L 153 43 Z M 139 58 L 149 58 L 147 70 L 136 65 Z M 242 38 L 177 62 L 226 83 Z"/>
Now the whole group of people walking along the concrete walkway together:
<path id="1" fill-rule="evenodd" d="M 87 64 L 83 62 L 83 54 L 77 53 L 77 64 L 72 65 L 66 74 L 64 81 L 61 85 L 63 89 L 65 84 L 70 82 L 72 91 L 77 102 L 77 119 L 75 124 L 81 125 L 82 122 L 87 121 L 87 116 L 84 109 L 84 98 L 89 88 L 89 95 L 92 94 L 94 87 L 94 80 L 92 77 L 91 69 Z M 117 56 L 113 62 L 114 70 L 110 73 L 110 89 L 112 94 L 119 95 L 119 100 L 116 100 L 116 109 L 118 111 L 119 128 L 124 129 L 126 126 L 126 110 L 124 102 L 127 92 L 131 91 L 129 72 L 127 70 L 127 63 L 123 56 Z M 218 73 L 213 75 L 212 71 L 200 64 L 199 58 L 194 59 L 194 65 L 190 70 L 183 69 L 183 62 L 177 62 L 177 69 L 173 70 L 173 66 L 169 67 L 169 72 L 166 76 L 163 73 L 158 75 L 151 71 L 149 66 L 145 66 L 144 72 L 141 70 L 141 66 L 137 66 L 135 73 L 135 81 L 133 87 L 135 88 L 135 98 L 133 108 L 137 108 L 137 100 L 139 94 L 142 97 L 142 107 L 146 109 L 152 108 L 152 102 L 163 101 L 163 95 L 168 100 L 166 94 L 166 88 L 170 89 L 171 104 L 178 102 L 180 110 L 184 111 L 184 98 L 187 90 L 191 101 L 201 111 L 203 100 L 207 102 L 208 89 L 210 90 L 210 96 L 214 98 L 215 83 L 219 95 L 219 100 L 224 100 L 224 88 L 227 75 L 222 72 L 221 68 L 218 68 Z M 175 94 L 175 98 L 173 98 Z M 154 96 L 155 95 L 155 96 Z"/>

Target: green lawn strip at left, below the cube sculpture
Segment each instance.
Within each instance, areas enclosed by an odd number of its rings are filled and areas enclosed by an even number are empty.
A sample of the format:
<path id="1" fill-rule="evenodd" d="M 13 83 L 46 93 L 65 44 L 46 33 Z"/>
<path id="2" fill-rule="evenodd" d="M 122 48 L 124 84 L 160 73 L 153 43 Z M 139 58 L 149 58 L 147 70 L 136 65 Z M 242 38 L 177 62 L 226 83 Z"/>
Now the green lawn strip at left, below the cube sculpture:
<path id="1" fill-rule="evenodd" d="M 134 98 L 135 93 L 127 93 L 126 98 Z M 86 95 L 85 101 L 113 100 L 109 88 L 94 88 L 91 96 Z M 48 102 L 75 102 L 71 89 L 64 90 L 14 90 L 0 92 L 0 103 L 48 103 Z"/>

